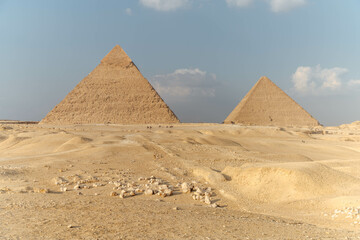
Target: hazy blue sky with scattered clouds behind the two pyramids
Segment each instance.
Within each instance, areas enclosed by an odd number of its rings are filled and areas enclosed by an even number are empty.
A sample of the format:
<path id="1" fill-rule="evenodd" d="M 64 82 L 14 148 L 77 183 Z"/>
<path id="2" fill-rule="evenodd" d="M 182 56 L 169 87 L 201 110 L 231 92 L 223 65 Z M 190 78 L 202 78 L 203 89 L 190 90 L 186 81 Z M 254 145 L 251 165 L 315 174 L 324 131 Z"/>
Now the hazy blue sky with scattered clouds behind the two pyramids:
<path id="1" fill-rule="evenodd" d="M 267 76 L 324 125 L 360 120 L 358 0 L 0 0 L 0 119 L 40 120 L 119 44 L 180 120 Z"/>

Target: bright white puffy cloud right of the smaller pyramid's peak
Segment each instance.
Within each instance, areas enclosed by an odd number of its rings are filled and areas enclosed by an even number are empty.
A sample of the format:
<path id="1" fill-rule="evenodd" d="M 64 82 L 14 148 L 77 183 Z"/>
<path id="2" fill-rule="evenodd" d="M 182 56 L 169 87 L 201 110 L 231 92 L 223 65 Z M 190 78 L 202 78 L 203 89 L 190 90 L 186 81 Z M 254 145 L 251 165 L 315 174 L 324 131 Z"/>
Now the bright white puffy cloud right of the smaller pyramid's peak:
<path id="1" fill-rule="evenodd" d="M 346 68 L 321 68 L 300 66 L 292 76 L 294 88 L 297 92 L 318 94 L 326 91 L 339 90 L 343 80 L 341 76 L 347 73 Z"/>

